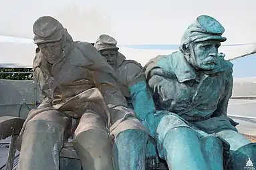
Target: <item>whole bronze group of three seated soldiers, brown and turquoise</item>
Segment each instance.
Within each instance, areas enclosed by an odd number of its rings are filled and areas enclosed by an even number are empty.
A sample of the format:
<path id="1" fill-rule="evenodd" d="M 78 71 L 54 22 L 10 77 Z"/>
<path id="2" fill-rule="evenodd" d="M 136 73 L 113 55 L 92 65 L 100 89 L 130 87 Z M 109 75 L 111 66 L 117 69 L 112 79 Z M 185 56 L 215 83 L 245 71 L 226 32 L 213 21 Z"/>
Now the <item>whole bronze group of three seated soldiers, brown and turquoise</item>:
<path id="1" fill-rule="evenodd" d="M 53 17 L 37 19 L 33 75 L 44 98 L 21 130 L 18 170 L 59 169 L 70 136 L 84 170 L 156 169 L 159 160 L 172 170 L 256 165 L 255 143 L 227 117 L 233 64 L 218 51 L 224 31 L 201 15 L 179 51 L 142 67 L 109 35 L 73 41 Z"/>

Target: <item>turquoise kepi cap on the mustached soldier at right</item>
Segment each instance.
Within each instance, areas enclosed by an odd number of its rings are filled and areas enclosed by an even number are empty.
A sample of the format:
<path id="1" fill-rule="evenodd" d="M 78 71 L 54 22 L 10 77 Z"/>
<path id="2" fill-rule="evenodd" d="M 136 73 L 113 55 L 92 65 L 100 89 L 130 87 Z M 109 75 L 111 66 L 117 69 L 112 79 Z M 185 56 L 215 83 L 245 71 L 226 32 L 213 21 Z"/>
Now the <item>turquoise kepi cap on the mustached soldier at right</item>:
<path id="1" fill-rule="evenodd" d="M 181 39 L 181 46 L 191 42 L 201 42 L 207 40 L 217 40 L 224 42 L 227 39 L 221 35 L 225 29 L 213 17 L 201 15 L 196 21 L 188 26 Z"/>

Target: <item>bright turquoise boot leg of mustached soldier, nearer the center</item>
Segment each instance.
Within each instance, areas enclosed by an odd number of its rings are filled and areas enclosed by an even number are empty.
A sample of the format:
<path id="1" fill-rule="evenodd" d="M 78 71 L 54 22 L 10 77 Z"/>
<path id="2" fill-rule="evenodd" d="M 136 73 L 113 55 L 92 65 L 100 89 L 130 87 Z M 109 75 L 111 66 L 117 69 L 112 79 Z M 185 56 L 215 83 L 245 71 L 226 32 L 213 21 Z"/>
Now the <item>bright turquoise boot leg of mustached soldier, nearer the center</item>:
<path id="1" fill-rule="evenodd" d="M 169 169 L 209 169 L 197 133 L 188 127 L 168 131 L 163 141 L 164 158 Z"/>

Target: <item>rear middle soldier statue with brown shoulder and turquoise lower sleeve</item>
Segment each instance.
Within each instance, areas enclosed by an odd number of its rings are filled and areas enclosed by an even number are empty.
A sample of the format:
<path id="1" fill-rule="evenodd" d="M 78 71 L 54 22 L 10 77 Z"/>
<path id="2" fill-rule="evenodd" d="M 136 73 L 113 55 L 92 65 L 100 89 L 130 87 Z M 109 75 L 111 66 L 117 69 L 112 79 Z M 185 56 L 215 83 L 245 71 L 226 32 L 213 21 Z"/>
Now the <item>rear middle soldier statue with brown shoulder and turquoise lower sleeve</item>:
<path id="1" fill-rule="evenodd" d="M 116 71 L 118 82 L 120 83 L 122 93 L 126 97 L 126 101 L 128 101 L 129 107 L 134 109 L 140 121 L 142 121 L 145 127 L 148 127 L 148 131 L 152 132 L 154 127 L 151 127 L 152 130 L 150 130 L 147 121 L 154 121 L 156 110 L 152 94 L 146 88 L 143 67 L 134 60 L 127 60 L 118 51 L 119 48 L 116 45 L 116 39 L 104 34 L 98 37 L 94 47 Z M 148 141 L 146 155 L 146 167 L 157 167 L 158 157 L 151 138 Z M 144 155 L 141 156 L 143 157 Z M 136 169 L 136 163 L 134 165 L 133 169 Z"/>

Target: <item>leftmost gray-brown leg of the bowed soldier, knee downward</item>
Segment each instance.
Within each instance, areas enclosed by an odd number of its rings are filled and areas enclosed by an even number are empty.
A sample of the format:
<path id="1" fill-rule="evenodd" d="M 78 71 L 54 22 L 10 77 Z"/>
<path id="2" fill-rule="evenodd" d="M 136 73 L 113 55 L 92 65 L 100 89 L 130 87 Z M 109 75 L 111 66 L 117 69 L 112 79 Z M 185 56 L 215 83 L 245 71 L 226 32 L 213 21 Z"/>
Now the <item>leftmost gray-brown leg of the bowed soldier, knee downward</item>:
<path id="1" fill-rule="evenodd" d="M 27 122 L 18 170 L 57 170 L 63 133 L 70 119 L 57 111 L 39 113 Z"/>

